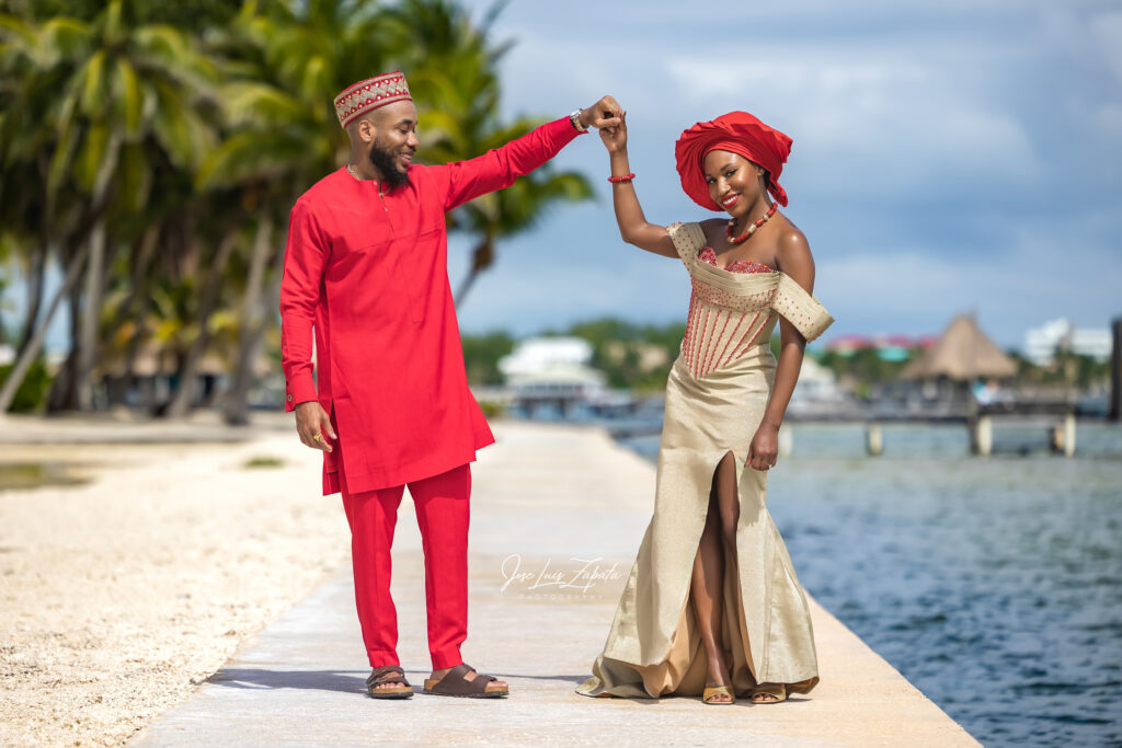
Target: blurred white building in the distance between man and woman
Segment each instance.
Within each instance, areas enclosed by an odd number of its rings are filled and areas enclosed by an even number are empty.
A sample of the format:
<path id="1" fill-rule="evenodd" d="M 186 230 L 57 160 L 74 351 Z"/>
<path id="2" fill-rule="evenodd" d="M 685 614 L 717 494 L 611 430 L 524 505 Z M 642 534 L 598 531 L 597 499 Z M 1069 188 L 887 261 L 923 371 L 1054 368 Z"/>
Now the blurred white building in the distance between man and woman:
<path id="1" fill-rule="evenodd" d="M 498 370 L 518 398 L 583 400 L 607 389 L 591 361 L 592 347 L 580 338 L 527 338 L 498 360 Z"/>

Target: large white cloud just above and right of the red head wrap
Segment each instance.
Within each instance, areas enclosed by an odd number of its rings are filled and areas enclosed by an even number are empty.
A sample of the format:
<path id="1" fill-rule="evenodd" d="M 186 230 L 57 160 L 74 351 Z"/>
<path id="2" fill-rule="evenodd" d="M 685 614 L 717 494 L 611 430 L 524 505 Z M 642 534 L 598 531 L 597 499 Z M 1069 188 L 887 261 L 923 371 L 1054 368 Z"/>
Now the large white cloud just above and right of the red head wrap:
<path id="1" fill-rule="evenodd" d="M 891 198 L 948 182 L 1040 178 L 1024 126 L 964 85 L 963 71 L 883 50 L 800 47 L 762 56 L 771 62 L 730 66 L 681 56 L 666 70 L 699 109 L 748 109 L 792 135 L 792 164 L 812 172 L 815 192 L 858 186 L 870 198 Z"/>

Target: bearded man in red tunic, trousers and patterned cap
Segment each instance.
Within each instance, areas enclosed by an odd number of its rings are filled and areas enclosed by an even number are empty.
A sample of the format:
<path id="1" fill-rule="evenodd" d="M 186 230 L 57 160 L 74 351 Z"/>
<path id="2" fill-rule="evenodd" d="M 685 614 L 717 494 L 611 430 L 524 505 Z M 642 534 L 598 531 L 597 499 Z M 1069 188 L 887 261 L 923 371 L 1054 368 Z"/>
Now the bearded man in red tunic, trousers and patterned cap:
<path id="1" fill-rule="evenodd" d="M 619 111 L 605 96 L 478 158 L 417 166 L 417 114 L 402 73 L 361 81 L 335 98 L 350 163 L 292 209 L 280 286 L 282 353 L 287 409 L 296 412 L 300 438 L 324 453 L 324 495 L 342 492 L 374 698 L 413 695 L 397 659 L 389 595 L 389 548 L 405 486 L 425 554 L 433 667 L 425 691 L 508 692 L 506 683 L 477 675 L 460 656 L 468 613 L 469 463 L 495 438 L 468 390 L 444 214 L 509 186 L 590 126 L 615 127 Z"/>

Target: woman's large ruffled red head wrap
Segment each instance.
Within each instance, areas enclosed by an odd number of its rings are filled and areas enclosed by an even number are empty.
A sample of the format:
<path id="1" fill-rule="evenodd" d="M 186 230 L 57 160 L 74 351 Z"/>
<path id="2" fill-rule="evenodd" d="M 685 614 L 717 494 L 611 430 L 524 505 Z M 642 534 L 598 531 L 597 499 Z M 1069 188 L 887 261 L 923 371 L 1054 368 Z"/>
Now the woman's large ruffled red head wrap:
<path id="1" fill-rule="evenodd" d="M 747 112 L 729 112 L 711 122 L 698 122 L 682 132 L 674 144 L 682 190 L 701 207 L 720 211 L 720 205 L 709 196 L 702 168 L 710 150 L 729 150 L 767 169 L 771 175 L 767 192 L 780 205 L 787 205 L 787 191 L 779 185 L 779 175 L 791 153 L 791 138 Z"/>

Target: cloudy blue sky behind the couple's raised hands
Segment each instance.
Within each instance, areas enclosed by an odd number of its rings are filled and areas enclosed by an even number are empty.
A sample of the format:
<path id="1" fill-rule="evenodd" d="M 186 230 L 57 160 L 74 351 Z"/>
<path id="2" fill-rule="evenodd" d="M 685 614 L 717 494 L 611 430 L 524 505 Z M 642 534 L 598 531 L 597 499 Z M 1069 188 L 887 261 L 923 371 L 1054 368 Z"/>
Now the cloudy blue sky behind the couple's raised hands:
<path id="1" fill-rule="evenodd" d="M 467 4 L 479 17 L 490 3 Z M 695 121 L 744 109 L 790 135 L 787 214 L 837 318 L 825 340 L 937 333 L 973 311 L 1019 347 L 1057 316 L 1104 327 L 1122 315 L 1118 2 L 515 0 L 495 31 L 516 40 L 506 113 L 561 116 L 604 93 L 627 109 L 651 221 L 715 215 L 674 172 L 673 142 Z M 463 330 L 681 318 L 681 265 L 618 238 L 598 138 L 557 164 L 588 174 L 599 200 L 503 242 Z M 450 249 L 454 287 L 468 243 Z"/>

